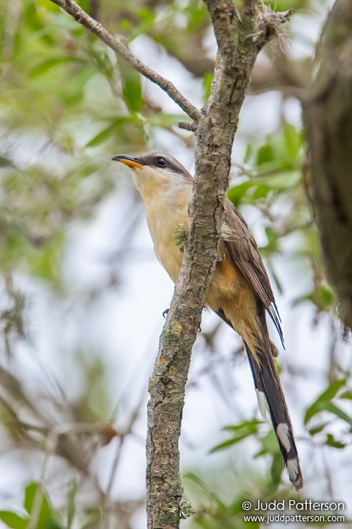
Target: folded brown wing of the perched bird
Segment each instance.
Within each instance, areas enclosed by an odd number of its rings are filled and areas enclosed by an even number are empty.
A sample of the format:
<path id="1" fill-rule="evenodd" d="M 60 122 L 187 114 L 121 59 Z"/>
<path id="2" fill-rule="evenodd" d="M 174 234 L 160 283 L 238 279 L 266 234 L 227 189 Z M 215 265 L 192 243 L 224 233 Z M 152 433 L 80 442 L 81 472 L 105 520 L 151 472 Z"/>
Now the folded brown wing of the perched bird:
<path id="1" fill-rule="evenodd" d="M 225 202 L 225 229 L 222 236 L 227 252 L 252 286 L 259 300 L 268 311 L 284 345 L 281 319 L 275 304 L 268 274 L 258 252 L 258 246 L 246 221 L 230 200 Z"/>

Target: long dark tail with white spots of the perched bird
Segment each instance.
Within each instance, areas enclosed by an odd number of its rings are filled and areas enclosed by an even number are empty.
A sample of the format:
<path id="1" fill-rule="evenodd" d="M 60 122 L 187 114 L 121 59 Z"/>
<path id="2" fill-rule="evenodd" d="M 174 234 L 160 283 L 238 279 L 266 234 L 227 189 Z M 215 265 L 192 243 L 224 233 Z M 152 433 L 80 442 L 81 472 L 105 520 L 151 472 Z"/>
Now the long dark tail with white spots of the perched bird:
<path id="1" fill-rule="evenodd" d="M 289 418 L 289 411 L 279 375 L 277 375 L 275 363 L 272 358 L 273 344 L 270 342 L 266 327 L 265 311 L 258 307 L 258 312 L 263 333 L 263 340 L 260 340 L 260 345 L 256 348 L 256 357 L 259 363 L 254 358 L 253 353 L 251 353 L 245 341 L 244 346 L 246 347 L 249 365 L 251 366 L 260 413 L 263 419 L 266 419 L 266 411 L 268 408 L 289 479 L 294 489 L 300 490 L 303 487 L 303 476 L 299 464 L 296 443 L 294 441 L 294 430 Z M 217 314 L 232 327 L 231 322 L 227 320 L 227 317 L 221 309 L 217 311 Z"/>

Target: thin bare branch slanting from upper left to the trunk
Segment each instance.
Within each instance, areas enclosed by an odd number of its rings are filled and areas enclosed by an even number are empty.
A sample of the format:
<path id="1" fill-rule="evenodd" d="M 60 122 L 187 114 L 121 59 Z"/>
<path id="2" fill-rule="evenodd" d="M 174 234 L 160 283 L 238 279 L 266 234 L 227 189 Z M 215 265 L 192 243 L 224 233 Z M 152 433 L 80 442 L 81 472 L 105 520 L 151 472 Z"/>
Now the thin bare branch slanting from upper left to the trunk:
<path id="1" fill-rule="evenodd" d="M 162 75 L 153 71 L 149 66 L 146 66 L 142 61 L 139 61 L 132 52 L 127 49 L 122 42 L 115 39 L 111 33 L 103 28 L 103 26 L 90 17 L 83 9 L 78 6 L 73 0 L 51 0 L 57 6 L 63 8 L 66 13 L 73 16 L 78 23 L 82 24 L 84 28 L 92 31 L 94 35 L 99 37 L 109 48 L 113 49 L 122 59 L 132 66 L 137 72 L 142 73 L 145 78 L 151 80 L 156 85 L 160 86 L 170 97 L 179 105 L 179 107 L 186 112 L 186 114 L 196 121 L 199 118 L 199 110 L 192 105 L 186 97 L 184 97 L 179 90 L 168 79 L 163 78 Z"/>

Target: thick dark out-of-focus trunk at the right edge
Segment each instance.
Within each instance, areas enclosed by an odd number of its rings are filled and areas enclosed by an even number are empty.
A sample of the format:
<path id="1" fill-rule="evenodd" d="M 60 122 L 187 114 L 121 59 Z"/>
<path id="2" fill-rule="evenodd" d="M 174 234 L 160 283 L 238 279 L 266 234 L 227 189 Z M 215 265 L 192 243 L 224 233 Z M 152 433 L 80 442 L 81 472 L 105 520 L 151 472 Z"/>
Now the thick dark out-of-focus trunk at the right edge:
<path id="1" fill-rule="evenodd" d="M 327 274 L 352 327 L 352 1 L 337 0 L 305 109 L 311 188 Z"/>

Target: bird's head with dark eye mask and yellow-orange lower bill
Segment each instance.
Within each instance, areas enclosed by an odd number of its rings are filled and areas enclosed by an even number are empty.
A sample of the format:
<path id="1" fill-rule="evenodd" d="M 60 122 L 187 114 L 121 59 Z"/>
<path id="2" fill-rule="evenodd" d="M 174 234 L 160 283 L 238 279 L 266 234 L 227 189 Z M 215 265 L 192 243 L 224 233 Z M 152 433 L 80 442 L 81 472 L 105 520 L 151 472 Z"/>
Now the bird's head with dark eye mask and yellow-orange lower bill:
<path id="1" fill-rule="evenodd" d="M 180 189 L 193 181 L 184 166 L 177 162 L 170 154 L 163 152 L 145 152 L 137 157 L 128 154 L 118 154 L 113 157 L 116 162 L 122 162 L 132 169 L 134 182 L 144 195 L 165 188 Z"/>

